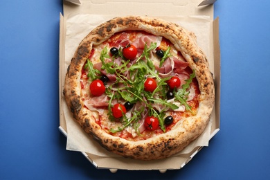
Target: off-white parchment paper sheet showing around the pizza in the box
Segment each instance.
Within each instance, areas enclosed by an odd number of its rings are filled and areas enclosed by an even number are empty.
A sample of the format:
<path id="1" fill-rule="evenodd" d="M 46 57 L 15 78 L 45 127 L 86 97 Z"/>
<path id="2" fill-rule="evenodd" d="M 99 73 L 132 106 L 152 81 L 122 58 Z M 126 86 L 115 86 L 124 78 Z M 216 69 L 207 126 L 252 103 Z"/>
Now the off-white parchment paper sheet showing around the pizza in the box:
<path id="1" fill-rule="evenodd" d="M 75 53 L 76 48 L 82 41 L 82 39 L 93 29 L 96 28 L 102 22 L 105 22 L 114 16 L 112 15 L 89 15 L 80 14 L 72 15 L 66 18 L 66 37 L 65 37 L 65 67 L 70 64 L 71 58 Z M 210 44 L 210 33 L 211 33 L 211 21 L 210 17 L 206 16 L 196 16 L 196 17 L 161 17 L 167 21 L 173 21 L 184 28 L 192 31 L 197 36 L 197 43 L 202 48 L 209 62 L 213 62 L 213 55 L 211 55 L 212 47 Z M 211 63 L 210 63 L 211 64 Z M 210 66 L 210 70 L 213 72 L 213 66 Z M 67 128 L 67 143 L 66 150 L 73 150 L 79 152 L 87 152 L 89 154 L 94 154 L 97 156 L 118 156 L 111 152 L 107 152 L 104 148 L 90 138 L 84 130 L 78 125 L 78 123 L 73 120 L 69 109 L 64 102 L 64 118 L 66 120 Z M 213 118 L 210 118 L 210 123 L 206 127 L 205 131 L 197 140 L 193 141 L 184 150 L 175 154 L 174 156 L 181 156 L 181 154 L 188 154 L 195 147 L 198 146 L 208 146 L 208 141 L 210 140 L 210 130 L 213 122 Z"/>

